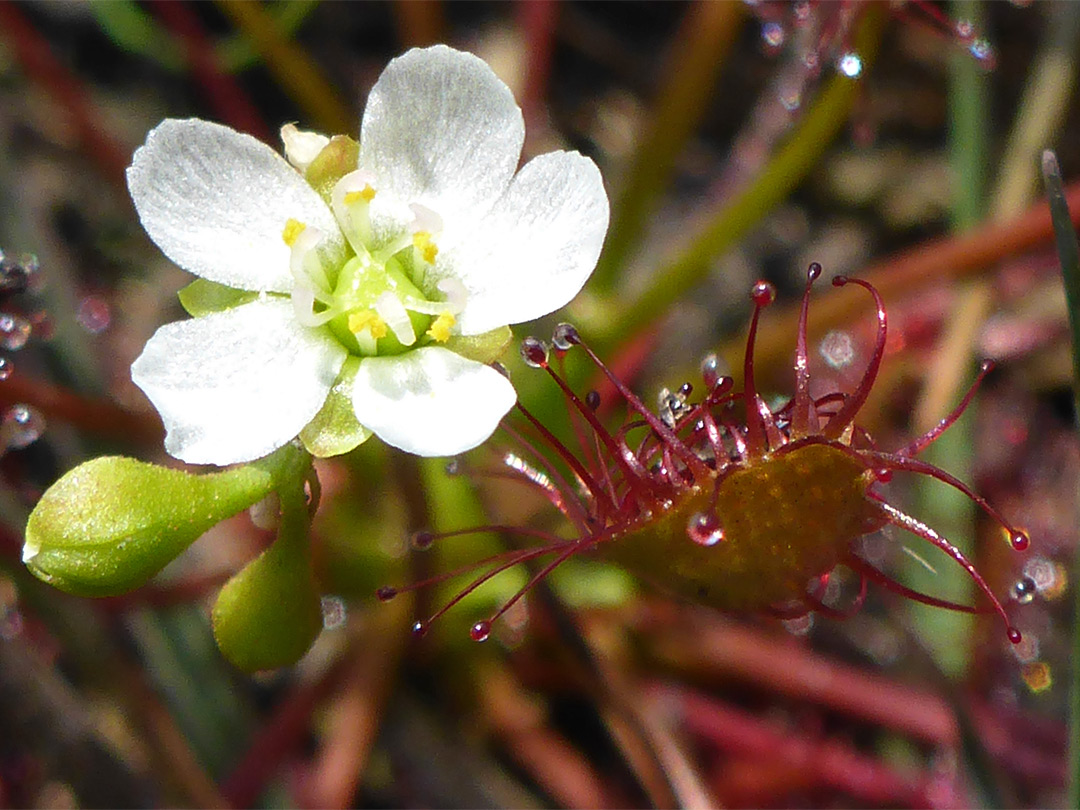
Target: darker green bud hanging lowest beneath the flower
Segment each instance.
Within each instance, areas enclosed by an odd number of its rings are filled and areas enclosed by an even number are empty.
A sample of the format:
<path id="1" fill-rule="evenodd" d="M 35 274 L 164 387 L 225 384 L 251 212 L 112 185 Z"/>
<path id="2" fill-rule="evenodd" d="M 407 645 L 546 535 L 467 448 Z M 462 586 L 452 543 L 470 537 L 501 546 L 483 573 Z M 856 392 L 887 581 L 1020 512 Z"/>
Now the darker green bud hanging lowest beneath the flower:
<path id="1" fill-rule="evenodd" d="M 296 663 L 323 627 L 306 536 L 283 531 L 225 583 L 211 618 L 218 648 L 238 669 L 258 672 Z"/>

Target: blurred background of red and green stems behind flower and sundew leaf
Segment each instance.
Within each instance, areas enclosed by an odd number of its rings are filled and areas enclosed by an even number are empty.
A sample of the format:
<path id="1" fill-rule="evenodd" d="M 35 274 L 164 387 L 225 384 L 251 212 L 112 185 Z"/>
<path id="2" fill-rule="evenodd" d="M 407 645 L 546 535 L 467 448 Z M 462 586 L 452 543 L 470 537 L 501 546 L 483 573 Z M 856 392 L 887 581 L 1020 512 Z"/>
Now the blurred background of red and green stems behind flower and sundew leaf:
<path id="1" fill-rule="evenodd" d="M 0 807 L 1064 806 L 1080 444 L 1037 202 L 1053 148 L 1080 212 L 1078 31 L 1069 2 L 0 0 Z M 165 117 L 275 147 L 288 121 L 354 134 L 386 63 L 436 41 L 510 84 L 526 157 L 578 149 L 612 200 L 586 289 L 518 337 L 573 321 L 652 402 L 697 380 L 708 351 L 740 367 L 764 278 L 781 299 L 759 380 L 789 395 L 797 298 L 819 261 L 874 281 L 889 306 L 861 420 L 887 448 L 941 419 L 978 360 L 998 361 L 931 460 L 1025 526 L 1030 551 L 1012 553 L 943 486 L 897 475 L 889 497 L 977 561 L 1022 645 L 994 617 L 881 589 L 846 621 L 734 619 L 582 561 L 486 644 L 468 626 L 524 571 L 414 639 L 455 586 L 384 605 L 375 589 L 499 539 L 415 553 L 409 532 L 541 512 L 470 474 L 497 461 L 498 436 L 456 474 L 377 441 L 320 464 L 332 596 L 325 632 L 287 671 L 237 673 L 208 630 L 217 586 L 270 540 L 247 515 L 127 597 L 68 597 L 25 571 L 26 515 L 59 474 L 105 453 L 167 462 L 129 367 L 181 316 L 188 276 L 135 217 L 134 148 Z M 872 311 L 820 287 L 812 370 L 850 389 Z M 561 429 L 550 380 L 507 364 Z M 908 538 L 874 535 L 862 551 L 913 586 L 976 599 Z M 843 603 L 852 584 L 836 583 Z"/>

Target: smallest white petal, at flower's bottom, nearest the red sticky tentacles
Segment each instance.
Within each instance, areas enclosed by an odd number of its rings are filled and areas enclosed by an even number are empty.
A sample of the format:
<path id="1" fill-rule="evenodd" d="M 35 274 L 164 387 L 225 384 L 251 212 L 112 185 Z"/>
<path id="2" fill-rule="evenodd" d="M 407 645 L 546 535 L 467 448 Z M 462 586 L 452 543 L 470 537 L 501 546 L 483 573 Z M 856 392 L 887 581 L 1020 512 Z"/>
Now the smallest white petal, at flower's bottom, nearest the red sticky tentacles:
<path id="1" fill-rule="evenodd" d="M 494 368 L 440 347 L 365 359 L 352 395 L 361 424 L 417 456 L 471 450 L 516 400 L 510 380 Z"/>

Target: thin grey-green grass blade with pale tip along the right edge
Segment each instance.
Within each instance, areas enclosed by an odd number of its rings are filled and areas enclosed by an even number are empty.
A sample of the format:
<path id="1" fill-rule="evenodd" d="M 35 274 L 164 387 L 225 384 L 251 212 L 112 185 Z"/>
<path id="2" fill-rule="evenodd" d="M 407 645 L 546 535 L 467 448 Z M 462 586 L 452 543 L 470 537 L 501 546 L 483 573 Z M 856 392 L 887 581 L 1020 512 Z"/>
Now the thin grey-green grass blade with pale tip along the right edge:
<path id="1" fill-rule="evenodd" d="M 1042 153 L 1042 176 L 1050 198 L 1050 218 L 1054 224 L 1057 256 L 1065 281 L 1069 330 L 1072 335 L 1072 397 L 1080 416 L 1080 245 L 1069 217 L 1062 186 L 1062 170 L 1057 157 L 1050 150 Z M 1080 582 L 1080 552 L 1072 564 L 1072 582 Z M 1080 807 L 1080 588 L 1072 585 L 1072 656 L 1069 685 L 1069 748 L 1067 807 Z"/>

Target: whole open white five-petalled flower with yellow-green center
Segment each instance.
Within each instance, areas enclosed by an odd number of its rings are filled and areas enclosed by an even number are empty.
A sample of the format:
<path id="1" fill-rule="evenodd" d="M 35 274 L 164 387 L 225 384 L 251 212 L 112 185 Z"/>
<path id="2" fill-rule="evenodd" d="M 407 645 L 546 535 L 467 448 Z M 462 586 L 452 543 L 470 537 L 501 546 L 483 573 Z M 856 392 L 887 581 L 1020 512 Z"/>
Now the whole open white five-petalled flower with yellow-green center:
<path id="1" fill-rule="evenodd" d="M 515 394 L 454 349 L 582 287 L 608 221 L 595 164 L 552 152 L 515 174 L 513 96 L 481 59 L 443 45 L 387 66 L 355 171 L 332 185 L 312 172 L 338 139 L 292 125 L 282 137 L 292 165 L 228 127 L 166 120 L 127 170 L 150 238 L 218 301 L 162 326 L 132 365 L 166 449 L 228 464 L 298 434 L 319 447 L 309 434 L 340 428 L 342 408 L 359 424 L 321 455 L 363 441 L 360 426 L 422 456 L 475 447 Z"/>

